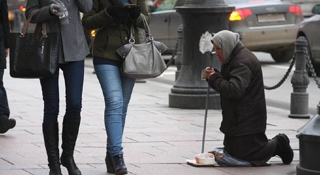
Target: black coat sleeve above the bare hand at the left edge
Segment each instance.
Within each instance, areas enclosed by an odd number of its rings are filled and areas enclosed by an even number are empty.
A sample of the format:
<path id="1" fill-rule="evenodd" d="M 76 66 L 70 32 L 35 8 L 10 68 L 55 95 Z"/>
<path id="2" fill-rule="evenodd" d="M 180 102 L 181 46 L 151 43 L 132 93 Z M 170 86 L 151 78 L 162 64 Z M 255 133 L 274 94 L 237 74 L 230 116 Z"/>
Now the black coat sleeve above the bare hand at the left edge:
<path id="1" fill-rule="evenodd" d="M 9 48 L 9 19 L 8 19 L 8 5 L 7 0 L 0 1 L 0 24 L 2 28 L 2 35 L 4 39 L 4 48 Z M 1 34 L 1 31 L 0 31 Z M 1 38 L 0 38 L 1 39 Z M 1 42 L 1 41 L 0 41 Z"/>

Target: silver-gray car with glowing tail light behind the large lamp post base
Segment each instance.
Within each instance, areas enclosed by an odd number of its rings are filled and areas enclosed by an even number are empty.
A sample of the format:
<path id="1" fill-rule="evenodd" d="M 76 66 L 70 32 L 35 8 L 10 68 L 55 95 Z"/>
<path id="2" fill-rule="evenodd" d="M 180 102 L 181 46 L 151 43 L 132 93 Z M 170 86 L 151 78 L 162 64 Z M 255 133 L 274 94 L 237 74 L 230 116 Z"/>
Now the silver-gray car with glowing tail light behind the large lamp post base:
<path id="1" fill-rule="evenodd" d="M 150 30 L 155 40 L 175 49 L 177 28 L 182 24 L 175 6 L 186 0 L 157 0 L 149 7 Z M 276 62 L 291 60 L 299 23 L 299 5 L 281 0 L 224 0 L 236 10 L 229 17 L 229 30 L 238 32 L 251 51 L 268 52 Z"/>

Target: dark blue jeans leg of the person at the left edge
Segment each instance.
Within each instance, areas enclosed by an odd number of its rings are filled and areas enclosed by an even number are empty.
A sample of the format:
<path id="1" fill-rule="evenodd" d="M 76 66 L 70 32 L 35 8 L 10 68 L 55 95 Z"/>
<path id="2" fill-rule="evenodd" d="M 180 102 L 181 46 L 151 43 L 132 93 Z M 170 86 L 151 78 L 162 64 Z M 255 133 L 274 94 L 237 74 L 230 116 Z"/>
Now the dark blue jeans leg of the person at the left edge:
<path id="1" fill-rule="evenodd" d="M 3 86 L 4 69 L 0 68 L 0 125 L 3 121 L 7 120 L 10 115 L 7 93 Z"/>

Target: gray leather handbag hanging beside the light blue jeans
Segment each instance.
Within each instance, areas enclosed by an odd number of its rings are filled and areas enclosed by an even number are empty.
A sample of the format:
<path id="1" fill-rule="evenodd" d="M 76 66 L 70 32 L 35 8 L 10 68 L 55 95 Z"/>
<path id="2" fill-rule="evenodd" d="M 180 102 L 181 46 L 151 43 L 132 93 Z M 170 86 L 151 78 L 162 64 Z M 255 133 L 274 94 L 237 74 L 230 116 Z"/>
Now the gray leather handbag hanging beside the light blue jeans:
<path id="1" fill-rule="evenodd" d="M 134 29 L 131 25 L 129 44 L 121 46 L 116 52 L 124 59 L 121 70 L 125 76 L 140 79 L 155 78 L 167 68 L 161 58 L 161 53 L 167 50 L 167 46 L 153 40 L 145 16 L 143 14 L 140 16 L 143 19 L 147 42 L 134 44 Z"/>

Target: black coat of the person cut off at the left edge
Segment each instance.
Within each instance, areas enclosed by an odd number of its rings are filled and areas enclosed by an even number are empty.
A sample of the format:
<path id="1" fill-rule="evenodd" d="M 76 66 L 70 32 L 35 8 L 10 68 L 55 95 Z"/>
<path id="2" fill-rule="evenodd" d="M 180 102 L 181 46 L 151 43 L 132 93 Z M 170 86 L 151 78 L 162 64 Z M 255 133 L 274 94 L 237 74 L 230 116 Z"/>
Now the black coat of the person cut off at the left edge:
<path id="1" fill-rule="evenodd" d="M 0 0 L 0 68 L 6 68 L 4 49 L 9 48 L 9 19 L 7 0 Z"/>

